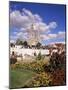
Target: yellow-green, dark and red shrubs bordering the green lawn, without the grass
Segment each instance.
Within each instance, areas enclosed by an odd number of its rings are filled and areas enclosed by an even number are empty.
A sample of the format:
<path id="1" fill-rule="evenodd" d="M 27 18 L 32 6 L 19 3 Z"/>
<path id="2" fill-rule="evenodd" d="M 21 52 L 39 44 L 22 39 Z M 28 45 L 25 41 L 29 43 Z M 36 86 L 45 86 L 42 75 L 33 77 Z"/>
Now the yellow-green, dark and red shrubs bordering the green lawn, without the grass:
<path id="1" fill-rule="evenodd" d="M 37 56 L 37 55 L 36 55 Z M 15 63 L 12 68 L 19 70 L 29 70 L 36 74 L 22 87 L 41 87 L 66 84 L 66 57 L 65 52 L 53 53 L 47 64 L 41 55 L 38 54 L 34 62 Z M 22 79 L 23 80 L 23 79 Z"/>

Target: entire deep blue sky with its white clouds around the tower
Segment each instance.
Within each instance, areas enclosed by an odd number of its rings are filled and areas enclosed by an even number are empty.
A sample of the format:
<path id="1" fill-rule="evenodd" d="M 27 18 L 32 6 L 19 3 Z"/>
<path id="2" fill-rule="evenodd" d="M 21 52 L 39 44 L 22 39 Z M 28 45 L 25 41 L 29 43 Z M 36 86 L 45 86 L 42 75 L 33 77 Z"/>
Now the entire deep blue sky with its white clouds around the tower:
<path id="1" fill-rule="evenodd" d="M 11 41 L 15 41 L 21 36 L 26 39 L 25 26 L 28 26 L 28 23 L 35 19 L 37 28 L 40 27 L 39 30 L 43 33 L 41 34 L 42 44 L 65 42 L 65 5 L 12 1 L 9 4 Z M 24 30 L 25 33 L 23 33 Z"/>

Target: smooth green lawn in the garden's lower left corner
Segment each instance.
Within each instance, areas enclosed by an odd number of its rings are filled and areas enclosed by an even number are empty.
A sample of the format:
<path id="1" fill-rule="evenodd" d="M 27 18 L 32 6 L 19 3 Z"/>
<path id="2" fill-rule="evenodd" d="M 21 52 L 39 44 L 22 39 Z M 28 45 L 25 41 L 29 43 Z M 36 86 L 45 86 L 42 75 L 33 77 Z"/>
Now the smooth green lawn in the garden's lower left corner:
<path id="1" fill-rule="evenodd" d="M 35 72 L 29 70 L 11 70 L 10 88 L 23 87 L 33 76 Z"/>

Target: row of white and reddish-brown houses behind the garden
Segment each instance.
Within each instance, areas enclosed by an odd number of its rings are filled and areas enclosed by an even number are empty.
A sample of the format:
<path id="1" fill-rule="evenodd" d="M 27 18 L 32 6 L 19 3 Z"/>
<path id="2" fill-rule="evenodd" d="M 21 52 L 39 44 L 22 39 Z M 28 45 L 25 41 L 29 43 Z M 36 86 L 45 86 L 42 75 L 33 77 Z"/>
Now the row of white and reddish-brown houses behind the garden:
<path id="1" fill-rule="evenodd" d="M 25 59 L 26 57 L 34 57 L 35 53 L 36 55 L 41 52 L 42 55 L 52 55 L 54 52 L 58 52 L 59 54 L 63 51 L 65 51 L 65 45 L 63 44 L 52 44 L 47 46 L 41 46 L 40 49 L 37 49 L 35 46 L 27 47 L 25 48 L 22 45 L 15 45 L 15 47 L 10 47 L 10 55 L 12 52 L 15 52 L 15 54 L 19 57 L 23 57 Z"/>

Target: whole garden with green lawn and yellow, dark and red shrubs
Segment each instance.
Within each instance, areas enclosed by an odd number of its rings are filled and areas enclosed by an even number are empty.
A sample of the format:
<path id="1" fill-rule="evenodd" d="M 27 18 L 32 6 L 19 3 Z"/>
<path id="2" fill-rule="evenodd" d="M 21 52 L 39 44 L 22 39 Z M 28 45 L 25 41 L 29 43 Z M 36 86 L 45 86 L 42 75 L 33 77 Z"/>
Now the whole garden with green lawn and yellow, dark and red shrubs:
<path id="1" fill-rule="evenodd" d="M 52 56 L 39 53 L 33 62 L 10 65 L 10 88 L 32 88 L 66 85 L 65 52 Z"/>

